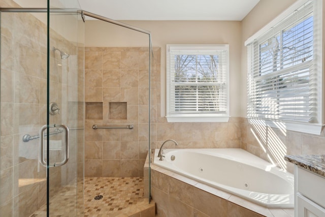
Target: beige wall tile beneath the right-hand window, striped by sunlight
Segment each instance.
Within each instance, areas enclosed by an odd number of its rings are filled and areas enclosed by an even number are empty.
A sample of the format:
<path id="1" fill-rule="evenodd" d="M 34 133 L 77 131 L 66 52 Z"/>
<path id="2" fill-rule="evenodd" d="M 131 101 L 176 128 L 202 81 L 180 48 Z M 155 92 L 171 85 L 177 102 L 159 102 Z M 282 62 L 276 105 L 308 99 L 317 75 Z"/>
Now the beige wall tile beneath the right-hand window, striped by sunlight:
<path id="1" fill-rule="evenodd" d="M 324 152 L 325 128 L 320 135 L 312 135 L 288 131 L 281 123 L 277 125 L 278 128 L 273 128 L 257 120 L 241 118 L 241 148 L 291 173 L 294 165 L 285 161 L 284 156 Z"/>

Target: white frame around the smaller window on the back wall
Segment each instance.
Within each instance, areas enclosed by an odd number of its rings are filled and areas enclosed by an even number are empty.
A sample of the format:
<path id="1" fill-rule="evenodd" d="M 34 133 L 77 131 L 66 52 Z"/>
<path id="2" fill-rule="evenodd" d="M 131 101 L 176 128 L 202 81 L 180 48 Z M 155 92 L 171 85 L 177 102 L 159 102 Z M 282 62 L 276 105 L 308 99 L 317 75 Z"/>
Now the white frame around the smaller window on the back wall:
<path id="1" fill-rule="evenodd" d="M 225 88 L 226 88 L 226 111 L 224 113 L 172 113 L 171 112 L 171 50 L 180 50 L 192 51 L 216 51 L 224 50 L 226 51 L 226 79 L 225 79 Z M 203 53 L 204 54 L 204 53 Z M 229 45 L 228 44 L 214 44 L 214 45 L 205 45 L 205 44 L 167 44 L 166 46 L 166 118 L 168 122 L 228 122 L 229 120 Z"/>

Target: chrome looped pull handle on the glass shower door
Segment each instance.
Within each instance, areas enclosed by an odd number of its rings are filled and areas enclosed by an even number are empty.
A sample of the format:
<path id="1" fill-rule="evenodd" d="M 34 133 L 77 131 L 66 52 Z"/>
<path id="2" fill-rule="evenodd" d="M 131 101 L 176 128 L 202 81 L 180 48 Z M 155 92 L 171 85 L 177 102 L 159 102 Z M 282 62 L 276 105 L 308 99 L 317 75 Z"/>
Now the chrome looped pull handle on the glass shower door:
<path id="1" fill-rule="evenodd" d="M 47 128 L 62 128 L 66 131 L 66 150 L 64 150 L 64 159 L 61 162 L 57 162 L 54 163 L 52 165 L 49 165 L 49 167 L 59 167 L 62 166 L 64 164 L 66 164 L 69 160 L 69 128 L 66 125 L 63 125 L 63 123 L 61 125 L 44 125 L 41 130 L 40 130 L 40 163 L 44 166 L 47 167 L 47 162 L 45 161 L 44 158 L 44 151 L 45 151 L 45 144 L 44 144 L 44 131 Z M 49 136 L 48 136 L 49 137 Z M 48 138 L 49 139 L 49 138 Z"/>

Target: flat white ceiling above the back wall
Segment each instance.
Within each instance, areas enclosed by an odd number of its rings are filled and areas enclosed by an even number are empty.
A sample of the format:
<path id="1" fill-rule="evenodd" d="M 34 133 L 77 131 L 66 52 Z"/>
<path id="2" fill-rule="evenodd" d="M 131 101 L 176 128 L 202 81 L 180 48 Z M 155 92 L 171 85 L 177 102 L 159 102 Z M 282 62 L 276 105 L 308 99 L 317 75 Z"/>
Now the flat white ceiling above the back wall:
<path id="1" fill-rule="evenodd" d="M 78 0 L 115 20 L 242 20 L 259 0 Z"/>

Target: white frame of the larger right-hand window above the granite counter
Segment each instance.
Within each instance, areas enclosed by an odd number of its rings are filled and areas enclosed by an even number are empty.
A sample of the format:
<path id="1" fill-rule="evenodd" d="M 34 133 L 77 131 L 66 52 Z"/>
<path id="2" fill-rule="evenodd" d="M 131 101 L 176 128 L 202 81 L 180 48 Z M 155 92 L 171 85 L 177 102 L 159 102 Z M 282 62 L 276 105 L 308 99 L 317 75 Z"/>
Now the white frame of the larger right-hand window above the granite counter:
<path id="1" fill-rule="evenodd" d="M 313 122 L 300 122 L 295 120 L 281 120 L 281 119 L 271 119 L 271 118 L 259 118 L 259 117 L 250 117 L 248 115 L 249 108 L 249 96 L 247 97 L 247 118 L 249 122 L 268 126 L 268 127 L 277 127 L 281 126 L 281 128 L 285 130 L 293 130 L 303 133 L 310 133 L 310 134 L 317 134 L 320 135 L 321 129 L 323 123 L 324 123 L 324 100 L 323 100 L 323 91 L 324 91 L 324 85 L 323 85 L 323 73 L 324 73 L 324 64 L 323 64 L 323 49 L 319 49 L 319 47 L 323 48 L 323 29 L 322 29 L 322 1 L 308 1 L 308 0 L 298 0 L 296 3 L 291 5 L 287 10 L 285 10 L 283 13 L 281 13 L 278 17 L 276 17 L 273 21 L 271 21 L 268 25 L 263 27 L 261 30 L 259 30 L 256 34 L 251 36 L 246 42 L 245 46 L 248 47 L 247 49 L 247 80 L 249 82 L 249 78 L 251 76 L 251 73 L 253 73 L 251 70 L 251 56 L 253 51 L 253 43 L 256 43 L 259 38 L 264 37 L 268 33 L 272 31 L 273 28 L 276 28 L 276 26 L 279 23 L 284 22 L 286 19 L 290 17 L 298 8 L 302 7 L 304 4 L 312 2 L 313 4 L 313 19 L 314 19 L 314 33 L 313 33 L 313 73 L 317 80 L 315 83 L 316 85 L 316 105 L 317 107 L 314 107 L 316 112 L 316 117 Z M 275 27 L 274 27 L 275 26 Z M 316 40 L 315 40 L 316 39 Z M 317 40 L 318 39 L 318 40 Z M 258 45 L 257 45 L 258 46 Z M 257 51 L 258 53 L 259 51 Z M 255 50 L 256 54 L 256 50 Z M 257 54 L 258 55 L 258 54 Z M 249 83 L 247 86 L 249 90 Z"/>

